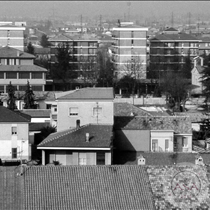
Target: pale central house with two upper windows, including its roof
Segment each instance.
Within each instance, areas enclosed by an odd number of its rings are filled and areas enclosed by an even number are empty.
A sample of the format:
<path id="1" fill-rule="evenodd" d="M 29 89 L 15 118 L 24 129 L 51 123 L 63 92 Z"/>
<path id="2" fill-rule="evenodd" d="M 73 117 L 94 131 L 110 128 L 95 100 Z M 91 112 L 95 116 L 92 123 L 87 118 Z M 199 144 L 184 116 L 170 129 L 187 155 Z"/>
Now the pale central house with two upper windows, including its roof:
<path id="1" fill-rule="evenodd" d="M 82 88 L 57 96 L 57 130 L 114 124 L 113 88 Z"/>

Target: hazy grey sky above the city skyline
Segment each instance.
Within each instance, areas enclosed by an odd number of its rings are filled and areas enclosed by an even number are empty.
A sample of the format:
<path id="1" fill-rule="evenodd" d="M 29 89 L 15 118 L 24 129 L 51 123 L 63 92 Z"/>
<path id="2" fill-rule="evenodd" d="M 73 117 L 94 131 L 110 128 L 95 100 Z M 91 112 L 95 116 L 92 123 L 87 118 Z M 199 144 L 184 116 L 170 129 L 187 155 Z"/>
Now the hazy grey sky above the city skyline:
<path id="1" fill-rule="evenodd" d="M 128 14 L 129 1 L 1 1 L 0 16 L 49 17 Z M 209 1 L 130 1 L 130 14 L 144 17 L 209 13 Z"/>

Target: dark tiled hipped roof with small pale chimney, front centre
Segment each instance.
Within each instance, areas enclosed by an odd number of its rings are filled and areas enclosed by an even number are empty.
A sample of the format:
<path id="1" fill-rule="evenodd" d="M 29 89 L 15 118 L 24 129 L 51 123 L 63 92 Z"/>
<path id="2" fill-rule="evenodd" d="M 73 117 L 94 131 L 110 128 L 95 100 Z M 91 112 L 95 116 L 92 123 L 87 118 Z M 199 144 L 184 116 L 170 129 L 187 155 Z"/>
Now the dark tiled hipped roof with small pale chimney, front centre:
<path id="1" fill-rule="evenodd" d="M 38 147 L 81 147 L 110 148 L 112 144 L 111 125 L 85 125 L 50 134 Z M 89 142 L 86 142 L 89 133 Z"/>

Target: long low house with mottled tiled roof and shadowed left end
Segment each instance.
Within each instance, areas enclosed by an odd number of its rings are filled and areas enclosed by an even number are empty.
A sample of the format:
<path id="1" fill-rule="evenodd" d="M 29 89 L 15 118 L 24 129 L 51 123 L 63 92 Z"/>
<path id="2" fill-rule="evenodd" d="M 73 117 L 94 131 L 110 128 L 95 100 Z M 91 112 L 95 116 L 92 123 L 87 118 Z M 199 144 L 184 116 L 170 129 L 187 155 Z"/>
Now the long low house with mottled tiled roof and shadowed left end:
<path id="1" fill-rule="evenodd" d="M 188 117 L 116 116 L 114 131 L 114 146 L 118 150 L 192 151 L 192 128 Z"/>

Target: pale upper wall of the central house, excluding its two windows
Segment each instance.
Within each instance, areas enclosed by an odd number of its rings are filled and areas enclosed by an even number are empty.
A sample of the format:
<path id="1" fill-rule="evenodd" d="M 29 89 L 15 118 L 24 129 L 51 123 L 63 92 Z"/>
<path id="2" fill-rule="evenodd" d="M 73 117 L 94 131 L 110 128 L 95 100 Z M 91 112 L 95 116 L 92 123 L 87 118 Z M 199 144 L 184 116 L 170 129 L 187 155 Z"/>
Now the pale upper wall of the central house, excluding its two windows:
<path id="1" fill-rule="evenodd" d="M 101 117 L 93 116 L 93 108 L 96 107 L 96 101 L 59 101 L 57 130 L 65 130 L 76 127 L 76 121 L 80 120 L 80 125 L 93 124 L 110 124 L 114 123 L 114 111 L 112 101 L 98 101 L 98 106 L 102 107 Z M 69 115 L 70 107 L 78 107 L 78 115 Z"/>

